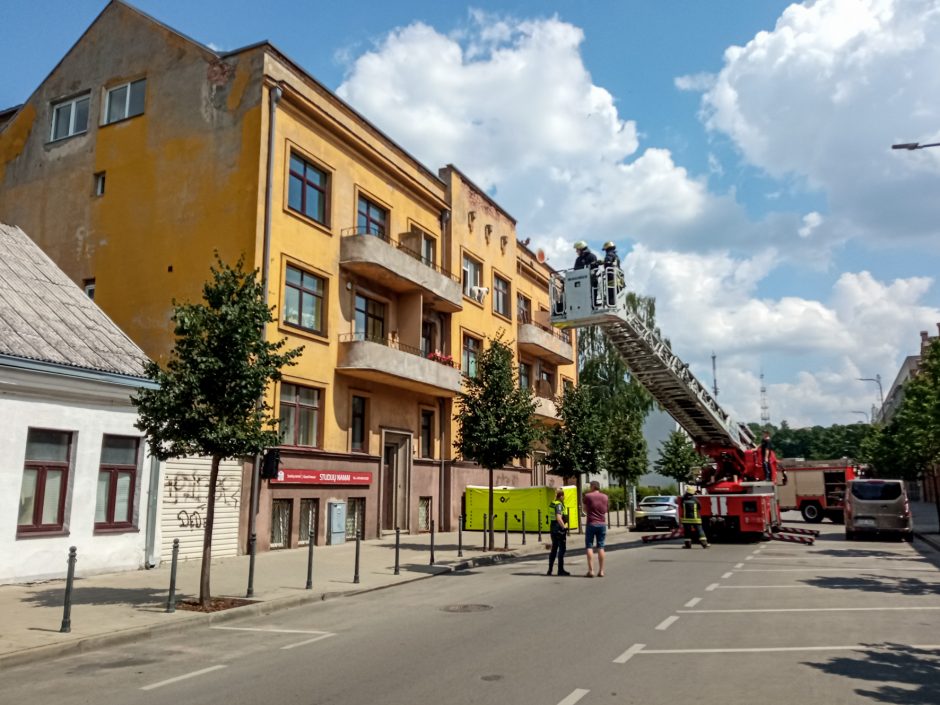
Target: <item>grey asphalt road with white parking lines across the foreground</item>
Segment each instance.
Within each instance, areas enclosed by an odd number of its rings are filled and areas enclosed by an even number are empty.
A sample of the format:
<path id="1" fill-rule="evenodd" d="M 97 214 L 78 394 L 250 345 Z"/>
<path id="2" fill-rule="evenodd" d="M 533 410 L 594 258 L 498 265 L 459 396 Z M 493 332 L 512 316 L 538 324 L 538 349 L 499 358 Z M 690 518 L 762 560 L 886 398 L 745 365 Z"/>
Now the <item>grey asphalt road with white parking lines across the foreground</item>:
<path id="1" fill-rule="evenodd" d="M 435 577 L 10 669 L 0 702 L 940 703 L 937 554 L 818 528 L 631 545 L 605 578 L 582 551 L 570 578 L 544 559 Z"/>

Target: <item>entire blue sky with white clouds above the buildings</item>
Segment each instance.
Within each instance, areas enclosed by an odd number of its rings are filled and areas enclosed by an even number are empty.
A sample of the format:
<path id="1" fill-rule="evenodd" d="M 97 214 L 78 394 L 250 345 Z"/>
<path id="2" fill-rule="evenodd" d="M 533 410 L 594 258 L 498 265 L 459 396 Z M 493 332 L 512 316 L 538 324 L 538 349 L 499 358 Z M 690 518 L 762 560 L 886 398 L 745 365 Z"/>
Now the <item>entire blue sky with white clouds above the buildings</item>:
<path id="1" fill-rule="evenodd" d="M 0 106 L 104 7 L 5 3 Z M 140 0 L 220 50 L 267 39 L 569 265 L 620 243 L 719 401 L 852 423 L 937 333 L 940 0 Z"/>

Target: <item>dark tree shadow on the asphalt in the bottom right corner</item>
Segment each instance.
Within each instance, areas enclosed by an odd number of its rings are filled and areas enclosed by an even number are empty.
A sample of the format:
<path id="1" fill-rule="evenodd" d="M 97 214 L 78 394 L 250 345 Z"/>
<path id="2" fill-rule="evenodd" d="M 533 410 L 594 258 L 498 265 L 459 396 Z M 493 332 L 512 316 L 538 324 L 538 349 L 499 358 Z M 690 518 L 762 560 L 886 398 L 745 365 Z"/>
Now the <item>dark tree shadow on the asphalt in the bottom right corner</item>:
<path id="1" fill-rule="evenodd" d="M 866 646 L 884 650 L 804 664 L 831 675 L 871 683 L 871 688 L 856 688 L 855 692 L 875 702 L 903 705 L 940 702 L 940 651 L 892 643 Z"/>

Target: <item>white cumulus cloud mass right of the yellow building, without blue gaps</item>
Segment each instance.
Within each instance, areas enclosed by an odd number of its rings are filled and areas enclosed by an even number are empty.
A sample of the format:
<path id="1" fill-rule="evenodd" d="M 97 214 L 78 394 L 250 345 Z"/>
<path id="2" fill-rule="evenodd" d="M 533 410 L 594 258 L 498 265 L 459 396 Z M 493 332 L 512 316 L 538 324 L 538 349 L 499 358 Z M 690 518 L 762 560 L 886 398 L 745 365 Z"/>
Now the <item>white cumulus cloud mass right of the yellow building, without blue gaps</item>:
<path id="1" fill-rule="evenodd" d="M 858 420 L 847 410 L 875 398 L 856 378 L 878 372 L 887 387 L 917 332 L 940 320 L 924 303 L 930 280 L 844 273 L 825 301 L 769 298 L 760 287 L 780 262 L 825 266 L 832 247 L 859 235 L 936 236 L 940 149 L 889 146 L 940 129 L 937 8 L 793 5 L 773 31 L 728 49 L 717 75 L 677 79 L 703 92 L 709 130 L 787 188 L 795 180 L 823 192 L 825 213 L 754 222 L 668 150 L 641 150 L 635 123 L 584 66 L 582 31 L 557 17 L 477 12 L 452 35 L 398 28 L 350 64 L 338 93 L 424 163 L 467 172 L 556 266 L 585 234 L 630 238 L 631 282 L 657 297 L 661 328 L 703 381 L 719 351 L 720 399 L 742 420 L 759 417 L 763 365 L 774 421 L 846 423 Z"/>

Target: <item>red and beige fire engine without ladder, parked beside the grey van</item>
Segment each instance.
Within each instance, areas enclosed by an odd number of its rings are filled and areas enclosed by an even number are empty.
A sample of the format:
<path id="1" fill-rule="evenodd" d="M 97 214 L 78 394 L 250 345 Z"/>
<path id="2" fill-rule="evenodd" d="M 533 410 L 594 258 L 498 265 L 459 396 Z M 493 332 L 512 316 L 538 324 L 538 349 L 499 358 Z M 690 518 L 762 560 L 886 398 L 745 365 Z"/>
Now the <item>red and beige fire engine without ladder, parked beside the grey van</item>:
<path id="1" fill-rule="evenodd" d="M 844 521 L 845 486 L 859 477 L 857 467 L 844 461 L 784 458 L 780 469 L 777 503 L 781 512 L 798 510 L 812 524 L 824 518 L 837 524 Z"/>

